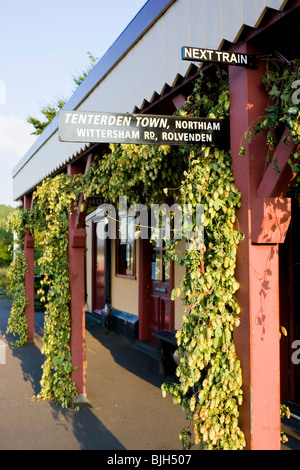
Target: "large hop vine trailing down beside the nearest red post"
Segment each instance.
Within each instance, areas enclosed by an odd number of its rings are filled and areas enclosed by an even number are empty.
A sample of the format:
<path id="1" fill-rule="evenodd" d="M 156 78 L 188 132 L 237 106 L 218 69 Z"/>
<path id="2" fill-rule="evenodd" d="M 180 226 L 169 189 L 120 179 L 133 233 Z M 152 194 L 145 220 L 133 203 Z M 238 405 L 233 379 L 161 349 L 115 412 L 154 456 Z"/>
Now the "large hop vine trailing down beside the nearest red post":
<path id="1" fill-rule="evenodd" d="M 226 118 L 230 98 L 225 70 L 217 70 L 217 78 L 215 85 L 197 81 L 180 112 Z M 242 372 L 233 343 L 240 313 L 234 297 L 239 288 L 234 270 L 242 238 L 235 228 L 241 195 L 234 186 L 226 150 L 192 149 L 183 176 L 181 200 L 194 211 L 197 204 L 204 205 L 204 244 L 191 240 L 183 256 L 176 251 L 176 241 L 168 249 L 168 256 L 186 268 L 173 298 L 182 296 L 187 312 L 177 332 L 179 383 L 163 384 L 162 392 L 173 396 L 191 423 L 180 435 L 185 449 L 193 445 L 208 450 L 242 449 L 245 438 L 238 426 Z"/>

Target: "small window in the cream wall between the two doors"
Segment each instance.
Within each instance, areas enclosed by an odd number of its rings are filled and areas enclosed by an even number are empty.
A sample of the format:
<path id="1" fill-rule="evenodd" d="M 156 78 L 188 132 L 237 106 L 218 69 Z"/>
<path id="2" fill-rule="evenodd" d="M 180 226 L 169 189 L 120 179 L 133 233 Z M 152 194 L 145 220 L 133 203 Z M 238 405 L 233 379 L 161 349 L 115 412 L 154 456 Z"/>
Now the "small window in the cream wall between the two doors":
<path id="1" fill-rule="evenodd" d="M 119 215 L 116 275 L 135 277 L 135 216 Z"/>

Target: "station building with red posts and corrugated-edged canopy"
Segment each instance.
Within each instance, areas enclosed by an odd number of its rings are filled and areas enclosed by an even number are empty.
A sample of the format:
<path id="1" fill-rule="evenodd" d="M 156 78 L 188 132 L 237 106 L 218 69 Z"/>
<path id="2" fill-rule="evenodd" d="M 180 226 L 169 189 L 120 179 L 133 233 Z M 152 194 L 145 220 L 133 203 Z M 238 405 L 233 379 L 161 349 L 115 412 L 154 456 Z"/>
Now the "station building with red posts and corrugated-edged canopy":
<path id="1" fill-rule="evenodd" d="M 299 18 L 300 0 L 148 0 L 64 107 L 170 116 L 191 92 L 198 59 L 212 60 L 204 50 L 219 51 L 217 58 L 227 60 L 232 168 L 242 193 L 237 217 L 245 235 L 236 271 L 241 325 L 235 343 L 244 379 L 241 427 L 253 450 L 279 449 L 280 403 L 300 405 L 300 366 L 291 361 L 292 344 L 300 334 L 299 209 L 289 193 L 290 147 L 278 145 L 279 172 L 271 167 L 265 172 L 260 138 L 247 144 L 255 158 L 238 156 L 245 130 L 264 114 L 268 97 L 262 85 L 266 62 L 258 60 L 256 68 L 236 62 L 243 54 L 283 61 L 298 57 Z M 187 51 L 193 60 L 182 59 L 184 46 L 194 48 Z M 84 173 L 104 149 L 97 143 L 61 142 L 54 118 L 13 171 L 14 199 L 30 208 L 33 192 L 45 178 L 60 172 Z M 147 240 L 134 241 L 126 234 L 116 240 L 97 237 L 105 221 L 98 210 L 101 194 L 93 196 L 86 219 L 74 216 L 69 227 L 73 360 L 78 366 L 74 379 L 82 395 L 87 312 L 104 323 L 109 319 L 118 334 L 145 347 L 155 345 L 153 332 L 179 329 L 183 315 L 180 299 L 171 300 L 183 268 L 166 264 L 163 247 Z M 28 233 L 25 249 L 32 339 L 34 245 Z M 289 331 L 281 346 L 280 325 Z"/>

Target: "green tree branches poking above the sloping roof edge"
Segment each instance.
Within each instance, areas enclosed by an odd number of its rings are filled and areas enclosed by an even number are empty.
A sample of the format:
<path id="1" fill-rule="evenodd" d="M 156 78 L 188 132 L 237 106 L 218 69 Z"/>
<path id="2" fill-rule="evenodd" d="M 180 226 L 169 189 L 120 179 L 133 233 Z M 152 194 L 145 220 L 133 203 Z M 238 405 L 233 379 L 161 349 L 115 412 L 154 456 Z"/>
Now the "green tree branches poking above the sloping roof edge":
<path id="1" fill-rule="evenodd" d="M 79 87 L 79 85 L 83 82 L 83 80 L 87 77 L 87 75 L 92 71 L 94 68 L 97 58 L 92 55 L 91 52 L 87 53 L 90 59 L 90 65 L 87 68 L 87 70 L 80 72 L 78 75 L 73 76 L 73 82 L 76 85 L 76 88 Z M 28 116 L 27 122 L 29 124 L 32 124 L 33 127 L 35 128 L 35 131 L 32 132 L 32 135 L 40 135 L 43 130 L 48 126 L 48 124 L 52 121 L 52 119 L 56 116 L 58 111 L 62 109 L 65 105 L 67 100 L 64 98 L 61 98 L 58 100 L 56 104 L 48 104 L 44 106 L 41 109 L 41 113 L 45 116 L 44 121 L 40 121 L 39 119 L 33 117 L 33 116 Z"/>

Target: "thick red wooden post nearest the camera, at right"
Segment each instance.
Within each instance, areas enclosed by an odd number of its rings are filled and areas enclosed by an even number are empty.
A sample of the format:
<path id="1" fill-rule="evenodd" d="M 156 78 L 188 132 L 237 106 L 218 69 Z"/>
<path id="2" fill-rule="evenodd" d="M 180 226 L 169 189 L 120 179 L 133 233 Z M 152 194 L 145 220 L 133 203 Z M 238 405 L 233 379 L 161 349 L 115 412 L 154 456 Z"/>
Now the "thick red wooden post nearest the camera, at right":
<path id="1" fill-rule="evenodd" d="M 246 45 L 238 52 L 251 53 Z M 242 363 L 244 403 L 240 424 L 248 448 L 280 449 L 280 358 L 278 244 L 253 240 L 252 201 L 263 177 L 267 147 L 265 137 L 243 142 L 246 156 L 238 156 L 241 139 L 254 120 L 264 114 L 267 96 L 262 84 L 264 63 L 257 70 L 229 67 L 231 91 L 231 152 L 235 183 L 242 193 L 237 213 L 245 240 L 240 243 L 236 277 L 241 325 L 235 333 Z M 267 196 L 267 195 L 265 195 Z M 271 196 L 271 195 L 269 195 Z M 264 201 L 264 199 L 261 199 Z M 275 205 L 274 205 L 275 206 Z"/>

